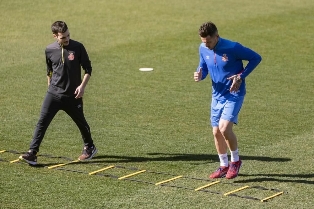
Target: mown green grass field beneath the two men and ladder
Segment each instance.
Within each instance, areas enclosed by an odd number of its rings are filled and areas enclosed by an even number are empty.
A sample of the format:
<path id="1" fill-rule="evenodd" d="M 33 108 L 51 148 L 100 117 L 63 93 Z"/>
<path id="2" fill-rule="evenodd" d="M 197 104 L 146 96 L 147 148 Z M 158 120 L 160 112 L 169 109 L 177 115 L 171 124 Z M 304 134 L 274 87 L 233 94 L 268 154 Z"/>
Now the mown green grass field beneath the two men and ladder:
<path id="1" fill-rule="evenodd" d="M 221 181 L 288 192 L 260 202 L 0 162 L 0 208 L 314 208 L 313 1 L 1 1 L 0 10 L 0 151 L 29 148 L 47 91 L 50 26 L 63 20 L 93 67 L 84 94 L 85 117 L 99 149 L 91 162 L 206 179 L 219 166 L 209 125 L 211 81 L 196 83 L 192 76 L 199 63 L 199 26 L 213 21 L 221 37 L 263 58 L 246 79 L 234 127 L 241 173 Z M 82 146 L 75 123 L 60 111 L 40 154 L 77 159 Z M 18 156 L 6 152 L 0 159 Z M 62 162 L 67 161 L 38 159 L 44 165 Z M 91 172 L 103 166 L 64 168 Z M 132 172 L 114 168 L 102 174 Z M 133 178 L 158 182 L 171 176 Z M 182 178 L 168 184 L 197 188 L 208 182 Z M 275 193 L 249 188 L 236 194 L 263 199 Z"/>

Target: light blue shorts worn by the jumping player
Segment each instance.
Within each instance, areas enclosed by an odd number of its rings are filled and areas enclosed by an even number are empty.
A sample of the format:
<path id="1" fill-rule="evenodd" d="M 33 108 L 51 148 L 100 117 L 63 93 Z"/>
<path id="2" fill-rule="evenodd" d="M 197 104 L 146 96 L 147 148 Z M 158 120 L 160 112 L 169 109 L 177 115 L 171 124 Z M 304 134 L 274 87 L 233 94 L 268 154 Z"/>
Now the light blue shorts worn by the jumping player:
<path id="1" fill-rule="evenodd" d="M 210 110 L 210 123 L 212 127 L 219 126 L 220 118 L 237 124 L 238 114 L 242 107 L 243 100 L 244 96 L 231 97 L 224 100 L 217 100 L 212 98 L 212 105 Z"/>

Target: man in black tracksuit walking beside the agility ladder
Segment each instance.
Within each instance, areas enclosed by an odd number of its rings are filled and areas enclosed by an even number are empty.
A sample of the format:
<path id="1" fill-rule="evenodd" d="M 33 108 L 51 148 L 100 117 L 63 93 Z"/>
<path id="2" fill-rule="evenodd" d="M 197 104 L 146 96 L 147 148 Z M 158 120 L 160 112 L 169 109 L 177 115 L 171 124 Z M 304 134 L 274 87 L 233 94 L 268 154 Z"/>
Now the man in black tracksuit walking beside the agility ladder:
<path id="1" fill-rule="evenodd" d="M 30 150 L 21 155 L 22 162 L 37 164 L 37 152 L 46 130 L 59 110 L 65 111 L 78 126 L 84 149 L 79 160 L 91 159 L 97 149 L 90 134 L 90 128 L 83 113 L 83 94 L 92 72 L 89 57 L 83 44 L 70 39 L 67 25 L 57 21 L 51 25 L 57 41 L 46 48 L 48 91 L 41 107 L 41 114 L 35 128 Z M 85 70 L 81 79 L 81 65 Z"/>

